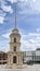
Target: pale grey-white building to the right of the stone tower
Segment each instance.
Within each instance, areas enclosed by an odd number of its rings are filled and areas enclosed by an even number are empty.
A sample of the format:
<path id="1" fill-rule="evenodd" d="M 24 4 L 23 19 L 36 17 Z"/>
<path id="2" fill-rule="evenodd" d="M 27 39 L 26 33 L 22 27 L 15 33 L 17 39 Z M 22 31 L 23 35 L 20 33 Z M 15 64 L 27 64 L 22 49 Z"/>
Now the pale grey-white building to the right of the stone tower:
<path id="1" fill-rule="evenodd" d="M 23 62 L 26 64 L 27 63 L 40 63 L 40 48 L 37 48 L 35 51 L 24 51 Z"/>

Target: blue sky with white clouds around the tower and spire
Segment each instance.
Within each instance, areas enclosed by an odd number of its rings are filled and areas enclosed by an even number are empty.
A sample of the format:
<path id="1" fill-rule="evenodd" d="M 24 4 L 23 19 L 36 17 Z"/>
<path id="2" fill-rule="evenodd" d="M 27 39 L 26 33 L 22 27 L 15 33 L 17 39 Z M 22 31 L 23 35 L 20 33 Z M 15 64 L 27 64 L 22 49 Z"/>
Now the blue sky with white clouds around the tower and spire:
<path id="1" fill-rule="evenodd" d="M 0 0 L 0 50 L 10 50 L 10 34 L 16 23 L 22 35 L 21 49 L 40 48 L 40 0 Z"/>

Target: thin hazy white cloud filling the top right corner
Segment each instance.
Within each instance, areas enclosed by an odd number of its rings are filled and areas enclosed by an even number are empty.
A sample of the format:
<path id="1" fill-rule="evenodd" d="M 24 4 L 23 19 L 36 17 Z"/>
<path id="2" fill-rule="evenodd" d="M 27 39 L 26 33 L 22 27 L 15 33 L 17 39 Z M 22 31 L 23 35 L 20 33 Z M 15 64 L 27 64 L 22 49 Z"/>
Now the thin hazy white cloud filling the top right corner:
<path id="1" fill-rule="evenodd" d="M 40 0 L 19 0 L 21 14 L 40 13 Z"/>

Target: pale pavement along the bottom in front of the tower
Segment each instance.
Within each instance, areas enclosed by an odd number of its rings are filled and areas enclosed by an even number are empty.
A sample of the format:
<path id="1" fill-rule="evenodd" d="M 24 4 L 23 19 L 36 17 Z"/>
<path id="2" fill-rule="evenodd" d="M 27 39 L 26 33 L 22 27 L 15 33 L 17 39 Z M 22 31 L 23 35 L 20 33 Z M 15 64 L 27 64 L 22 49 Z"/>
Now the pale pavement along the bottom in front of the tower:
<path id="1" fill-rule="evenodd" d="M 26 66 L 24 69 L 4 69 L 1 68 L 0 71 L 40 71 L 40 64 Z"/>

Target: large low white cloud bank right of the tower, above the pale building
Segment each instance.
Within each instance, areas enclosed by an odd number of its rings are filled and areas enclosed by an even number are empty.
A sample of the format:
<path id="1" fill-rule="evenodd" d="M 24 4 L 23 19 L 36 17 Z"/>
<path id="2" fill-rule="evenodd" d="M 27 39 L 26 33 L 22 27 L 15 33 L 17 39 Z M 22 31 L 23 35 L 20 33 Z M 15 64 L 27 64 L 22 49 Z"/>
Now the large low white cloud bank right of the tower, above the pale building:
<path id="1" fill-rule="evenodd" d="M 35 50 L 40 48 L 40 33 L 29 33 L 22 36 L 22 49 Z"/>

